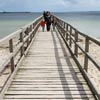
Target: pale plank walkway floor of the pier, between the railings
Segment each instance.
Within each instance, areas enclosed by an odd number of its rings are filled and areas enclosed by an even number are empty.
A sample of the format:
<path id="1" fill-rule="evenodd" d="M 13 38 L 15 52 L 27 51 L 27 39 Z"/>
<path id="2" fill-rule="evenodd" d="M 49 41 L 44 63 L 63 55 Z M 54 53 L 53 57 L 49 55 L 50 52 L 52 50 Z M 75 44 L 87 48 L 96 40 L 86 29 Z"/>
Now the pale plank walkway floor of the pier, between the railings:
<path id="1" fill-rule="evenodd" d="M 57 32 L 38 32 L 4 100 L 95 100 Z"/>

